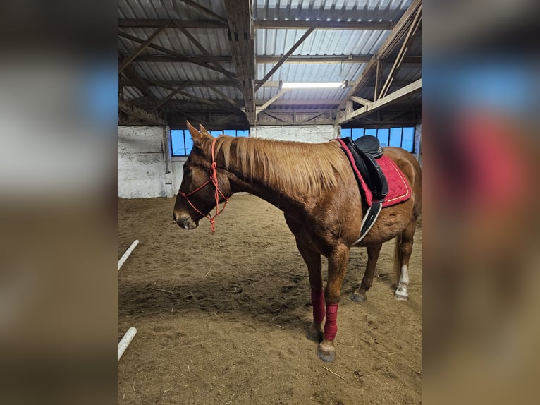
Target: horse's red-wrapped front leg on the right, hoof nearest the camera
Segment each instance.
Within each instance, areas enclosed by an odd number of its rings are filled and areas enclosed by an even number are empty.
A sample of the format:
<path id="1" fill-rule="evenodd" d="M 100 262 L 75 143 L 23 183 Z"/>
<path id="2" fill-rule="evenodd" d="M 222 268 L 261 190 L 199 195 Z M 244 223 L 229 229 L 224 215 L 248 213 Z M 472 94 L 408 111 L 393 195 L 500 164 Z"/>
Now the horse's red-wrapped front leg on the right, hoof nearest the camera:
<path id="1" fill-rule="evenodd" d="M 338 332 L 338 304 L 348 260 L 349 248 L 343 244 L 335 246 L 328 258 L 328 282 L 326 282 L 326 289 L 324 290 L 326 322 L 324 324 L 324 339 L 319 343 L 317 353 L 323 361 L 334 361 L 336 358 L 336 348 L 333 345 L 333 340 Z"/>

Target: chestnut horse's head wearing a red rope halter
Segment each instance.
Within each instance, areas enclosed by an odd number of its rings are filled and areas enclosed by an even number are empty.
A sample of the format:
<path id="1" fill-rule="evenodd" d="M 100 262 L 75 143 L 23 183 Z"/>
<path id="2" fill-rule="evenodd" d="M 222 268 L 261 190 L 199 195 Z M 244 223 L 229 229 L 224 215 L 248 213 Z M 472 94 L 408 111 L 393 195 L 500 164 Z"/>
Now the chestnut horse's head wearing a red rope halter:
<path id="1" fill-rule="evenodd" d="M 210 219 L 214 230 L 212 208 L 223 202 L 231 193 L 226 172 L 216 167 L 213 153 L 215 139 L 203 126 L 197 131 L 188 121 L 193 148 L 184 164 L 184 176 L 176 196 L 174 221 L 183 229 L 195 229 L 203 217 Z M 214 169 L 212 169 L 214 167 Z"/>

